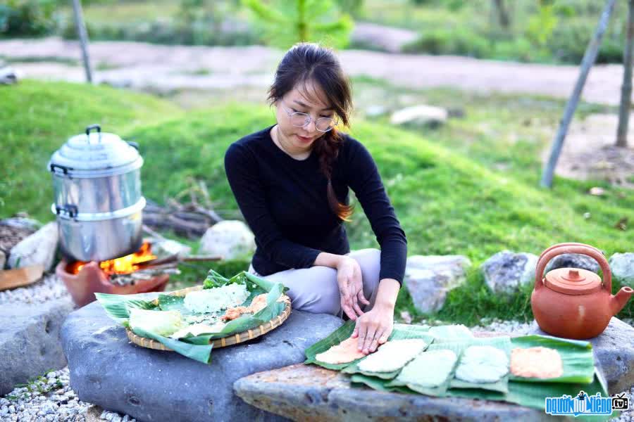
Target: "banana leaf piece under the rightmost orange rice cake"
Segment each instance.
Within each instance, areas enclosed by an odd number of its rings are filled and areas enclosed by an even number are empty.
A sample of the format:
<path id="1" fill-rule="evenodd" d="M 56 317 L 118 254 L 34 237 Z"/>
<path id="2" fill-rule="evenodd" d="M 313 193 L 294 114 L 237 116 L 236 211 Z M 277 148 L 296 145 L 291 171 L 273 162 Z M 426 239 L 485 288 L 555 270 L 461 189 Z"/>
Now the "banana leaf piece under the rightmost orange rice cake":
<path id="1" fill-rule="evenodd" d="M 512 347 L 549 347 L 557 350 L 564 365 L 564 374 L 557 378 L 525 378 L 511 374 L 511 380 L 525 383 L 592 383 L 595 373 L 595 358 L 592 343 L 582 340 L 568 340 L 549 335 L 524 335 L 511 339 Z"/>

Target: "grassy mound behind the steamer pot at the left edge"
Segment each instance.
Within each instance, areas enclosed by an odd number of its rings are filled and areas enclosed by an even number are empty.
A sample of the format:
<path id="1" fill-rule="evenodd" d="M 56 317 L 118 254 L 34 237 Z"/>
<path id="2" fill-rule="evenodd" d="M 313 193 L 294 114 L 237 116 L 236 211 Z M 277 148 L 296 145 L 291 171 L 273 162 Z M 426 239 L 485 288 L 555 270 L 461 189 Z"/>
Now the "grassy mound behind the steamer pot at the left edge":
<path id="1" fill-rule="evenodd" d="M 146 94 L 108 87 L 25 80 L 0 89 L 0 217 L 26 211 L 47 221 L 53 200 L 46 163 L 64 142 L 99 123 L 123 135 L 138 124 L 177 116 L 179 108 Z M 149 146 L 151 139 L 135 139 Z"/>

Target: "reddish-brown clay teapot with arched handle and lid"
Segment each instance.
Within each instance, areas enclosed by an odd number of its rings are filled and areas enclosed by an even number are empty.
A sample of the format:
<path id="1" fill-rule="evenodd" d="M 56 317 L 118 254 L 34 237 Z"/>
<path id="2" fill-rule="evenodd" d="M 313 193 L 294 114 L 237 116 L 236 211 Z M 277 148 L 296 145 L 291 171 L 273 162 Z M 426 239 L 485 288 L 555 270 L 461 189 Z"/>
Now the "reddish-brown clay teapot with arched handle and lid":
<path id="1" fill-rule="evenodd" d="M 603 271 L 601 277 L 581 268 L 559 268 L 548 271 L 546 264 L 564 253 L 578 253 L 594 258 Z M 611 295 L 612 274 L 603 254 L 583 243 L 559 243 L 540 255 L 535 270 L 535 289 L 530 296 L 535 320 L 542 331 L 562 338 L 596 337 L 608 326 L 634 293 L 623 287 Z"/>

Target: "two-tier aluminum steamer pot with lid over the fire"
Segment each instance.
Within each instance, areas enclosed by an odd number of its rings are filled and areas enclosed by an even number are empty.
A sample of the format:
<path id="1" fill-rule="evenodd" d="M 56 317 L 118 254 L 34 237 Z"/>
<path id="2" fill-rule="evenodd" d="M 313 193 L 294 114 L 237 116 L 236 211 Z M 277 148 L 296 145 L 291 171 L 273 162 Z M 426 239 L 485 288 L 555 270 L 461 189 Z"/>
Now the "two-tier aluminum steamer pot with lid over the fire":
<path id="1" fill-rule="evenodd" d="M 141 247 L 142 165 L 135 143 L 101 132 L 97 124 L 51 156 L 51 210 L 68 260 L 111 260 Z"/>

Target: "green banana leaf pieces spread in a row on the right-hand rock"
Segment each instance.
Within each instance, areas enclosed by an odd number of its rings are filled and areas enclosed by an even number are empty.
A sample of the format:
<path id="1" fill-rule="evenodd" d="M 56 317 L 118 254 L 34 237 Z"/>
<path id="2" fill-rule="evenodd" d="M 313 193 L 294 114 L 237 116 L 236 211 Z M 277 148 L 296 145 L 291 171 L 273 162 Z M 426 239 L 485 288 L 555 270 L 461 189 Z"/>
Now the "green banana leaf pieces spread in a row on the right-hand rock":
<path id="1" fill-rule="evenodd" d="M 586 341 L 542 335 L 475 338 L 464 326 L 428 328 L 395 324 L 388 342 L 418 338 L 426 343 L 421 352 L 397 370 L 380 373 L 363 371 L 363 361 L 372 354 L 337 365 L 316 359 L 317 354 L 347 340 L 353 330 L 354 321 L 348 321 L 327 338 L 309 347 L 305 363 L 348 373 L 353 386 L 366 385 L 374 390 L 433 397 L 490 399 L 537 409 L 544 409 L 545 397 L 574 395 L 580 390 L 588 395 L 600 392 L 607 397 L 606 383 L 595 370 L 592 345 Z M 535 347 L 553 350 L 561 356 L 561 376 L 530 378 L 516 376 L 509 371 L 512 350 Z"/>

